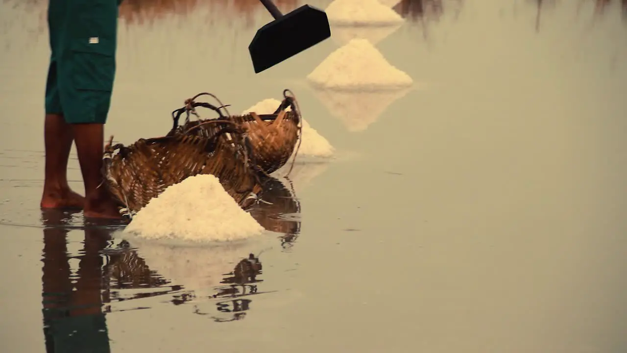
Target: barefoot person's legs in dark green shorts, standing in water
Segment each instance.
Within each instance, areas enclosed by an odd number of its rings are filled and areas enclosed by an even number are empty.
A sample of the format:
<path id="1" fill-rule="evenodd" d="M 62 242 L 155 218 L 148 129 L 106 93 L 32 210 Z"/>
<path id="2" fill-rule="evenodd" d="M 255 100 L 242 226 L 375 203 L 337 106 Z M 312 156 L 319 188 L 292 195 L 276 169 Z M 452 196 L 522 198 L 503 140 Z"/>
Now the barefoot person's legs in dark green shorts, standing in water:
<path id="1" fill-rule="evenodd" d="M 46 82 L 46 166 L 41 207 L 83 208 L 86 217 L 119 218 L 102 178 L 104 124 L 115 78 L 117 0 L 50 0 L 52 55 Z M 85 197 L 66 176 L 71 144 Z"/>

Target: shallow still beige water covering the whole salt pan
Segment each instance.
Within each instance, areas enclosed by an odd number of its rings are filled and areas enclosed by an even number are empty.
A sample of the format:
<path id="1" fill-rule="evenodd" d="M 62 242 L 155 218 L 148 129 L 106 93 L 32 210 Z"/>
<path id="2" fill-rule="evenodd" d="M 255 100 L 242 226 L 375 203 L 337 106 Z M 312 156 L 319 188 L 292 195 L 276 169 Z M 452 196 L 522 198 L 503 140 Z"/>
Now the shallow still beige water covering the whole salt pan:
<path id="1" fill-rule="evenodd" d="M 41 214 L 45 3 L 0 4 L 0 350 L 627 351 L 619 1 L 403 1 L 397 30 L 334 30 L 258 75 L 247 47 L 270 17 L 226 3 L 129 0 L 107 124 L 131 143 L 198 92 L 236 112 L 295 92 L 338 158 L 275 183 L 255 211 L 273 232 L 220 248 Z M 308 87 L 355 32 L 413 89 Z"/>

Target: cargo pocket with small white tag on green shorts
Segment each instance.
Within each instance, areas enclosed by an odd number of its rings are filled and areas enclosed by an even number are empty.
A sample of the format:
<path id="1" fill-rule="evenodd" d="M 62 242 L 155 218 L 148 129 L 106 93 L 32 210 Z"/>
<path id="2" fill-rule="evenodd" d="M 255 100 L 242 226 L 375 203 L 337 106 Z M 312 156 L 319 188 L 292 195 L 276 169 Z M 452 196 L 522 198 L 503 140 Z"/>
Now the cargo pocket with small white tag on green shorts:
<path id="1" fill-rule="evenodd" d="M 75 89 L 110 92 L 115 79 L 115 41 L 106 38 L 74 40 L 71 77 Z"/>

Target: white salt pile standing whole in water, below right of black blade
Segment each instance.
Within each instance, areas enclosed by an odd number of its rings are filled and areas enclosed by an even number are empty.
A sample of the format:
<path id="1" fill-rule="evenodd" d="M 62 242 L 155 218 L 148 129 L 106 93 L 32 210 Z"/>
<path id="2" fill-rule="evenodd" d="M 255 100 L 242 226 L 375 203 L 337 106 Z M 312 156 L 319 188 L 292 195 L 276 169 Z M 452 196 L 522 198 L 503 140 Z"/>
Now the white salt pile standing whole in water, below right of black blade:
<path id="1" fill-rule="evenodd" d="M 335 50 L 307 79 L 327 89 L 383 90 L 409 87 L 413 80 L 364 39 L 354 39 Z"/>

